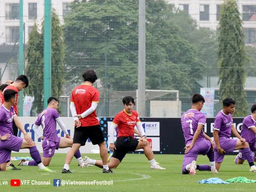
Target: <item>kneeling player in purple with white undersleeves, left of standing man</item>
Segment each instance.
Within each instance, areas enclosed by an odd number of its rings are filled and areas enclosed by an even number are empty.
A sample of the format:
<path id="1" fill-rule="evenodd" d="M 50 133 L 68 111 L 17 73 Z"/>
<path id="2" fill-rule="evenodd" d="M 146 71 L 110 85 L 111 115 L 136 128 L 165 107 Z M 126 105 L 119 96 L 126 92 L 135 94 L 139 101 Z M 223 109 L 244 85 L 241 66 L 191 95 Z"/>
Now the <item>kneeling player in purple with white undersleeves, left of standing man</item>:
<path id="1" fill-rule="evenodd" d="M 33 125 L 33 130 L 35 131 L 38 138 L 43 140 L 43 164 L 45 166 L 49 166 L 51 159 L 54 155 L 55 149 L 59 148 L 67 148 L 72 147 L 73 139 L 69 137 L 67 128 L 65 124 L 61 121 L 61 118 L 58 114 L 59 100 L 54 97 L 50 97 L 47 100 L 48 106 L 46 109 L 42 111 L 41 114 L 38 115 L 36 122 Z M 62 131 L 66 134 L 65 137 L 58 137 L 56 132 L 57 123 L 59 124 Z M 40 133 L 38 127 L 42 125 L 44 137 Z M 79 163 L 79 165 L 83 168 L 83 159 L 81 157 L 80 151 L 76 151 L 74 155 Z M 35 161 L 26 161 L 25 159 L 21 159 L 18 165 L 28 165 L 28 166 L 36 166 Z"/>

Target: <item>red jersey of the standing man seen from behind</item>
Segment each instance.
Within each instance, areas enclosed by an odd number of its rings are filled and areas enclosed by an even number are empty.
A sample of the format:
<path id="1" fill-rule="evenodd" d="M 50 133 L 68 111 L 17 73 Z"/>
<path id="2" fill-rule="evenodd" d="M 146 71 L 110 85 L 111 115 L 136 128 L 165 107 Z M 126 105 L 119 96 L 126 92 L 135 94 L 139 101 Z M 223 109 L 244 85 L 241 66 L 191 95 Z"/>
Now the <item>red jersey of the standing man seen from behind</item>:
<path id="1" fill-rule="evenodd" d="M 92 106 L 92 102 L 99 103 L 100 93 L 91 85 L 82 84 L 77 86 L 72 94 L 70 102 L 74 102 L 76 106 L 76 113 L 82 114 L 84 111 Z M 81 126 L 99 125 L 96 110 L 85 118 L 80 119 Z"/>

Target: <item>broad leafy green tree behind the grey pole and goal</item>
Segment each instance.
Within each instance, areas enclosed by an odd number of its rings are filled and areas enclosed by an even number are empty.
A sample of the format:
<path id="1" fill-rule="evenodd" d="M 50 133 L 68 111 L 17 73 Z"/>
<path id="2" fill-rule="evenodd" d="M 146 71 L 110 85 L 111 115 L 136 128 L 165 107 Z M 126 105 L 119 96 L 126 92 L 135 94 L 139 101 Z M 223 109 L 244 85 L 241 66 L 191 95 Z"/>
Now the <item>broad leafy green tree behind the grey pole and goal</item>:
<path id="1" fill-rule="evenodd" d="M 70 7 L 64 20 L 69 81 L 79 81 L 81 69 L 95 68 L 112 89 L 137 89 L 138 1 L 74 1 Z M 165 1 L 146 1 L 146 12 L 147 89 L 191 94 L 202 77 L 197 46 L 179 36 Z"/>

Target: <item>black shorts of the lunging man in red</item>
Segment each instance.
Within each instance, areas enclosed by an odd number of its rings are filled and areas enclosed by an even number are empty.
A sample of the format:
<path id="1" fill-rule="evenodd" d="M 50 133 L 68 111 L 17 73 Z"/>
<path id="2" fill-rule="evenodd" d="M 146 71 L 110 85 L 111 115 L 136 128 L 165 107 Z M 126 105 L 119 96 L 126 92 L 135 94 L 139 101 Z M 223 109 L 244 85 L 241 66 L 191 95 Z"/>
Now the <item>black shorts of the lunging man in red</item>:
<path id="1" fill-rule="evenodd" d="M 135 151 L 138 144 L 138 139 L 134 139 L 133 137 L 118 137 L 115 142 L 116 149 L 114 150 L 112 157 L 115 157 L 122 162 L 124 156 L 130 151 Z"/>

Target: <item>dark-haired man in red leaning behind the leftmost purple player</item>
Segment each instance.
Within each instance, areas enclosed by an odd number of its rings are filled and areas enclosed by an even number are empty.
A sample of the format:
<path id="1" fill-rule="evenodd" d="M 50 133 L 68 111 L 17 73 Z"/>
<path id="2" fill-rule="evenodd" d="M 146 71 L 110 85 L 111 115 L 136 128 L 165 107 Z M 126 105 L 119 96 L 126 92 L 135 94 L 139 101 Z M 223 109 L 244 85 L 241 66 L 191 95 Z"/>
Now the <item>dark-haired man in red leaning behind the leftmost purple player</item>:
<path id="1" fill-rule="evenodd" d="M 15 114 L 18 116 L 18 109 L 17 109 L 17 103 L 18 103 L 18 93 L 19 91 L 21 91 L 22 89 L 28 87 L 28 77 L 26 75 L 20 75 L 19 77 L 17 77 L 17 79 L 14 82 L 11 81 L 7 81 L 6 83 L 12 83 L 8 86 L 5 87 L 5 90 L 14 90 L 17 91 L 16 94 L 16 102 L 15 105 L 13 106 Z M 3 93 L 4 93 L 3 91 Z M 4 94 L 2 94 L 2 103 L 4 103 Z M 12 124 L 12 129 L 13 129 L 13 135 L 14 136 L 18 136 L 18 127 L 16 126 L 15 122 L 13 122 Z M 11 161 L 7 162 L 7 169 L 9 170 L 21 170 L 16 168 Z"/>

